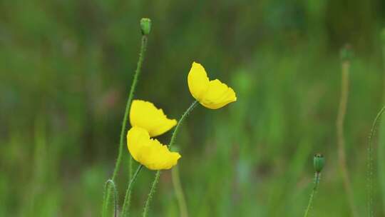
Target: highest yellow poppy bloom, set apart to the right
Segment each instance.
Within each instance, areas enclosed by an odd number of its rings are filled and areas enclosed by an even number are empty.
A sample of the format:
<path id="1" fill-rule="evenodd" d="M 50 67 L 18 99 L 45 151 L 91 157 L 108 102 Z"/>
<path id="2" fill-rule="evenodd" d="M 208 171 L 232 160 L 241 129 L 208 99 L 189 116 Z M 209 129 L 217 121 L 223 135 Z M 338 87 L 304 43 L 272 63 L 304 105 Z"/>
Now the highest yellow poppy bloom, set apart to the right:
<path id="1" fill-rule="evenodd" d="M 234 90 L 218 79 L 210 81 L 205 68 L 193 62 L 188 73 L 188 88 L 194 98 L 208 109 L 220 109 L 237 101 Z"/>

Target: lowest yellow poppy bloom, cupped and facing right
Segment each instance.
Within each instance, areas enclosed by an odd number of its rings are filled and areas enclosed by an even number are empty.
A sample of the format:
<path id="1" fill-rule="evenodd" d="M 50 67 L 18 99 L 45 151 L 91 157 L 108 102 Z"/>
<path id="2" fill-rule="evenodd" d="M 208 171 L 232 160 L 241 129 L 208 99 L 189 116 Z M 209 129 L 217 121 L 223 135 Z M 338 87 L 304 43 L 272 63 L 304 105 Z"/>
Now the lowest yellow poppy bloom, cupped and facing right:
<path id="1" fill-rule="evenodd" d="M 144 128 L 133 126 L 127 133 L 127 147 L 131 156 L 150 170 L 170 169 L 178 163 L 180 154 L 171 152 L 158 140 L 150 138 Z"/>

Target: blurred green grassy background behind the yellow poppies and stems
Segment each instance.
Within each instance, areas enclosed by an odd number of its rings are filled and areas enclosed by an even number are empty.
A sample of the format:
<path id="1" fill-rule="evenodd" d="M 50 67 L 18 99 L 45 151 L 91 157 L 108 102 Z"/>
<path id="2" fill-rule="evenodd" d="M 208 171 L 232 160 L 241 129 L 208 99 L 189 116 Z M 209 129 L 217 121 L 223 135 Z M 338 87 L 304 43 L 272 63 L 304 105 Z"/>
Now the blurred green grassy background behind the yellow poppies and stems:
<path id="1" fill-rule="evenodd" d="M 0 216 L 100 216 L 142 17 L 153 29 L 135 99 L 179 118 L 193 101 L 193 61 L 237 92 L 223 109 L 198 106 L 181 128 L 176 145 L 190 216 L 302 216 L 317 152 L 326 167 L 314 216 L 351 216 L 335 127 L 339 49 L 351 44 L 347 163 L 354 203 L 366 214 L 367 137 L 384 98 L 384 1 L 4 0 Z M 140 216 L 154 174 L 140 174 L 132 216 Z M 374 189 L 376 216 L 384 216 L 376 177 Z M 166 171 L 150 216 L 179 216 L 177 204 Z"/>

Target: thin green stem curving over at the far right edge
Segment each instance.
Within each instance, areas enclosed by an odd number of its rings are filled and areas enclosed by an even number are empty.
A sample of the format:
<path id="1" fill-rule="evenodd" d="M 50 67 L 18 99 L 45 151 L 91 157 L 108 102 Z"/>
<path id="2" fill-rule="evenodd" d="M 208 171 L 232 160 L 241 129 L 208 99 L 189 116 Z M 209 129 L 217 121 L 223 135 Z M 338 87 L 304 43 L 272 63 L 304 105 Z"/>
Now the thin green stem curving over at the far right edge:
<path id="1" fill-rule="evenodd" d="M 369 147 L 368 147 L 368 183 L 367 183 L 367 191 L 368 191 L 368 198 L 367 198 L 367 208 L 368 208 L 368 216 L 373 217 L 373 137 L 376 133 L 376 126 L 379 123 L 379 120 L 382 116 L 382 114 L 385 112 L 385 106 L 382 107 L 382 109 L 377 113 L 376 118 L 374 118 L 373 124 L 371 125 L 371 131 L 369 134 Z"/>

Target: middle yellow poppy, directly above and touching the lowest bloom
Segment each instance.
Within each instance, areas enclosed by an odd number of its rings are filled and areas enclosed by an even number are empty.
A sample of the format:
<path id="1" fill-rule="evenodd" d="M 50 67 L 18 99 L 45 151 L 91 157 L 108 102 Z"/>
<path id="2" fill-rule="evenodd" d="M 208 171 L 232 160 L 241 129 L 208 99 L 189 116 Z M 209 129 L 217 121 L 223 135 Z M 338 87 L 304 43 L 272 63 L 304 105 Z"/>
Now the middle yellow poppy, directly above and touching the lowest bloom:
<path id="1" fill-rule="evenodd" d="M 145 128 L 153 137 L 169 131 L 177 121 L 167 118 L 162 109 L 148 101 L 134 100 L 130 108 L 130 123 L 131 126 Z"/>

